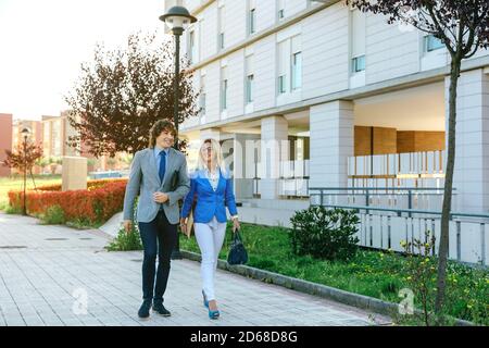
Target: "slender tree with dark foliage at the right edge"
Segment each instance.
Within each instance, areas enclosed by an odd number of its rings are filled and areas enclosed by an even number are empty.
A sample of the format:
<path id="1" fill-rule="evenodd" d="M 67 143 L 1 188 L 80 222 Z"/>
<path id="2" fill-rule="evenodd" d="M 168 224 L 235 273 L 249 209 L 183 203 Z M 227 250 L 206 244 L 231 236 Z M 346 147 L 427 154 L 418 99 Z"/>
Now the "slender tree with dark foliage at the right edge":
<path id="1" fill-rule="evenodd" d="M 462 61 L 489 47 L 489 1 L 487 0 L 347 0 L 363 12 L 388 16 L 388 23 L 410 24 L 440 39 L 450 53 L 450 99 L 448 158 L 441 214 L 441 235 L 435 311 L 441 313 L 449 251 L 449 222 L 455 166 L 456 89 Z"/>

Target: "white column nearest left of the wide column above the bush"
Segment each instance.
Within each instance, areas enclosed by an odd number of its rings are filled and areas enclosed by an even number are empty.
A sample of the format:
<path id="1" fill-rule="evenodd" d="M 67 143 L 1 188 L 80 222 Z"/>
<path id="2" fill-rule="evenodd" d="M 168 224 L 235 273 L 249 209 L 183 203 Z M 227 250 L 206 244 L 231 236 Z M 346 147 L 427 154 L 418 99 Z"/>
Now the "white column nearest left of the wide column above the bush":
<path id="1" fill-rule="evenodd" d="M 261 181 L 262 199 L 279 197 L 280 161 L 289 160 L 288 122 L 283 116 L 262 119 Z"/>

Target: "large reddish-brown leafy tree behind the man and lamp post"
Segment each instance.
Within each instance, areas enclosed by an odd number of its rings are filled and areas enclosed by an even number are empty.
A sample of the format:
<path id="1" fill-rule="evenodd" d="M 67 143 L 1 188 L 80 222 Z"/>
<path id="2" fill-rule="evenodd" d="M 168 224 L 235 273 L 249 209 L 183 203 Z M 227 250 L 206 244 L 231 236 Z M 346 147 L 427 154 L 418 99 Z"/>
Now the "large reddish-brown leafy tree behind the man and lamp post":
<path id="1" fill-rule="evenodd" d="M 82 75 L 65 97 L 68 122 L 77 130 L 68 138 L 76 147 L 99 158 L 116 152 L 135 153 L 148 147 L 149 133 L 158 120 L 173 123 L 174 45 L 153 35 L 130 35 L 125 50 L 105 51 L 97 46 L 91 63 L 82 64 Z M 183 60 L 181 65 L 188 66 Z M 180 73 L 179 119 L 196 116 L 198 92 L 192 74 Z M 186 142 L 183 141 L 181 148 Z"/>

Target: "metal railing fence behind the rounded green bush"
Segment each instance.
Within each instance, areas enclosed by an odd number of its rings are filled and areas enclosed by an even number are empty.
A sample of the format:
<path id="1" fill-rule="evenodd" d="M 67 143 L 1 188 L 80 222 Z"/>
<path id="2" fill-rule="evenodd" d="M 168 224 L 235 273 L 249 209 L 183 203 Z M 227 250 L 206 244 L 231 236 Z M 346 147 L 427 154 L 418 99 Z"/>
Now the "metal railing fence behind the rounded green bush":
<path id="1" fill-rule="evenodd" d="M 385 189 L 380 188 L 380 190 Z M 311 206 L 356 211 L 360 217 L 358 238 L 361 246 L 404 251 L 401 247 L 402 240 L 424 240 L 425 232 L 430 231 L 436 238 L 434 252 L 437 252 L 441 232 L 441 209 L 417 209 L 419 207 L 416 207 L 414 198 L 417 195 L 440 195 L 439 192 L 434 192 L 432 189 L 403 188 L 402 192 L 398 194 L 402 199 L 397 201 L 406 202 L 408 209 L 404 209 L 372 204 L 373 190 L 365 190 L 365 188 L 361 188 L 361 190 L 355 188 L 309 188 Z M 335 195 L 338 195 L 339 199 L 335 199 Z M 349 202 L 348 196 L 354 197 L 355 195 L 363 197 L 365 203 Z M 394 196 L 397 194 L 392 191 L 389 195 Z M 489 214 L 453 211 L 450 214 L 449 229 L 450 259 L 488 265 Z"/>

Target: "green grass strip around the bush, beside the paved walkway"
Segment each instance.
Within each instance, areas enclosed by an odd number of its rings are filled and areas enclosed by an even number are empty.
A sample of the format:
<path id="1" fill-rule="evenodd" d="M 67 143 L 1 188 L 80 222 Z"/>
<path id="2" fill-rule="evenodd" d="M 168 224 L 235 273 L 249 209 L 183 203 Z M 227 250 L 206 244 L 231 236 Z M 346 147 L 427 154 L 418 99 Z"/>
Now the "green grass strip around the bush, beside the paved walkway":
<path id="1" fill-rule="evenodd" d="M 241 235 L 249 254 L 248 265 L 391 302 L 399 302 L 399 290 L 410 287 L 405 272 L 406 259 L 401 254 L 361 249 L 348 262 L 298 257 L 291 251 L 287 232 L 283 227 L 242 223 Z M 226 259 L 230 237 L 228 225 L 220 259 Z M 200 252 L 195 237 L 188 239 L 180 235 L 180 248 Z M 451 303 L 449 314 L 489 325 L 487 269 L 450 262 L 448 279 Z"/>

